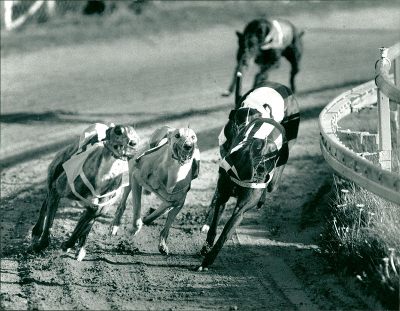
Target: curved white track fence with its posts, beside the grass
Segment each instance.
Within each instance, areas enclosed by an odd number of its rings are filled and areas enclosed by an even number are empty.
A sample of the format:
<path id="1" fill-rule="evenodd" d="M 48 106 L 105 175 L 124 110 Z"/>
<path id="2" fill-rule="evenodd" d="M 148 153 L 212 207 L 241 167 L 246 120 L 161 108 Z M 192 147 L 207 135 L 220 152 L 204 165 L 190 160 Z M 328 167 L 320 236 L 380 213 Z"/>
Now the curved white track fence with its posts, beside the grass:
<path id="1" fill-rule="evenodd" d="M 400 204 L 400 42 L 380 51 L 381 57 L 375 63 L 375 80 L 340 94 L 320 112 L 320 147 L 325 160 L 340 175 Z M 391 64 L 393 75 L 389 75 Z M 366 107 L 377 109 L 377 133 L 342 130 L 337 125 L 343 117 Z M 362 148 L 346 146 L 343 134 L 353 136 Z"/>

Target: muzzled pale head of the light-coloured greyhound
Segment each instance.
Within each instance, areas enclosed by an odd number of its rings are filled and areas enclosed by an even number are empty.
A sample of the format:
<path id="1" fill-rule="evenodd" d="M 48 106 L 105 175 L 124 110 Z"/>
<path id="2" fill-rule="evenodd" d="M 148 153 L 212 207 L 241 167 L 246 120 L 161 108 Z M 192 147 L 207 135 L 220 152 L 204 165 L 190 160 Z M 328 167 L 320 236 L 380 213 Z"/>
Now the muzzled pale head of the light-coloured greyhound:
<path id="1" fill-rule="evenodd" d="M 171 128 L 167 133 L 168 144 L 172 157 L 177 159 L 180 165 L 188 163 L 197 146 L 197 136 L 191 128 Z"/>

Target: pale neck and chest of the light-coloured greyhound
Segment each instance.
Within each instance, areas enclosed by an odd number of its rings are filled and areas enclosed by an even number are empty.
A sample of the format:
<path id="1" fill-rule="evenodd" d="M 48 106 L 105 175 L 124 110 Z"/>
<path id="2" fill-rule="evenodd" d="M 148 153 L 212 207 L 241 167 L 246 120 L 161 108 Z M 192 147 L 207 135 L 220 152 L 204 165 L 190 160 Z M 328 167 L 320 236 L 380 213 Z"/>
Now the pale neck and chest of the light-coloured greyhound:
<path id="1" fill-rule="evenodd" d="M 186 178 L 190 172 L 193 158 L 187 163 L 180 165 L 178 160 L 172 157 L 172 147 L 168 145 L 167 152 L 164 153 L 161 162 L 158 163 L 159 177 L 165 184 L 166 190 L 169 193 L 173 192 L 176 184 Z"/>

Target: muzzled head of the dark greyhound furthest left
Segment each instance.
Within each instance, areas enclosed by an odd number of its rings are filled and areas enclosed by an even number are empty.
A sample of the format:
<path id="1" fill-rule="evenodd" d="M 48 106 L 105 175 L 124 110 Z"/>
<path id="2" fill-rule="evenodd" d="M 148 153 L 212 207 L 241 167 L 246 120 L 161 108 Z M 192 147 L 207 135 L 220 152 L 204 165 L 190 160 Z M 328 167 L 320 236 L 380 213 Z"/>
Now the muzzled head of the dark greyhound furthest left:
<path id="1" fill-rule="evenodd" d="M 115 125 L 106 130 L 104 146 L 115 158 L 128 160 L 133 157 L 139 145 L 139 136 L 130 125 Z"/>

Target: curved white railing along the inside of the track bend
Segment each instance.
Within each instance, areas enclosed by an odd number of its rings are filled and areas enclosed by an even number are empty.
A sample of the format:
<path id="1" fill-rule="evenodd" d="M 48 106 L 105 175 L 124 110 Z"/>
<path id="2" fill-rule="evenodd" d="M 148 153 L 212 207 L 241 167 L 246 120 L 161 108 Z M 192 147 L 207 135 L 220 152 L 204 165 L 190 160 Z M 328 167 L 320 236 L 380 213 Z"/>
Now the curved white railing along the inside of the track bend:
<path id="1" fill-rule="evenodd" d="M 384 50 L 382 51 L 381 59 L 376 62 L 376 83 L 379 87 L 376 86 L 374 80 L 354 87 L 330 101 L 319 114 L 320 147 L 325 160 L 340 175 L 379 196 L 400 204 L 400 174 L 387 169 L 387 166 L 390 165 L 390 151 L 387 152 L 390 150 L 390 147 L 387 146 L 389 100 L 384 98 L 388 96 L 390 100 L 396 102 L 397 96 L 400 94 L 400 90 L 393 85 L 388 75 L 390 62 L 394 63 L 395 71 L 399 69 L 399 43 L 388 49 L 387 58 Z M 399 75 L 398 72 L 395 72 L 394 81 L 397 83 Z M 380 87 L 381 89 L 379 89 Z M 380 165 L 368 161 L 360 153 L 347 148 L 336 133 L 338 120 L 376 102 L 378 103 L 378 121 L 379 123 L 386 122 L 385 125 L 378 126 Z M 396 118 L 398 119 L 398 114 Z M 388 137 L 390 139 L 390 128 Z M 399 143 L 397 127 L 397 146 Z M 387 153 L 389 154 L 389 164 L 387 164 Z"/>

